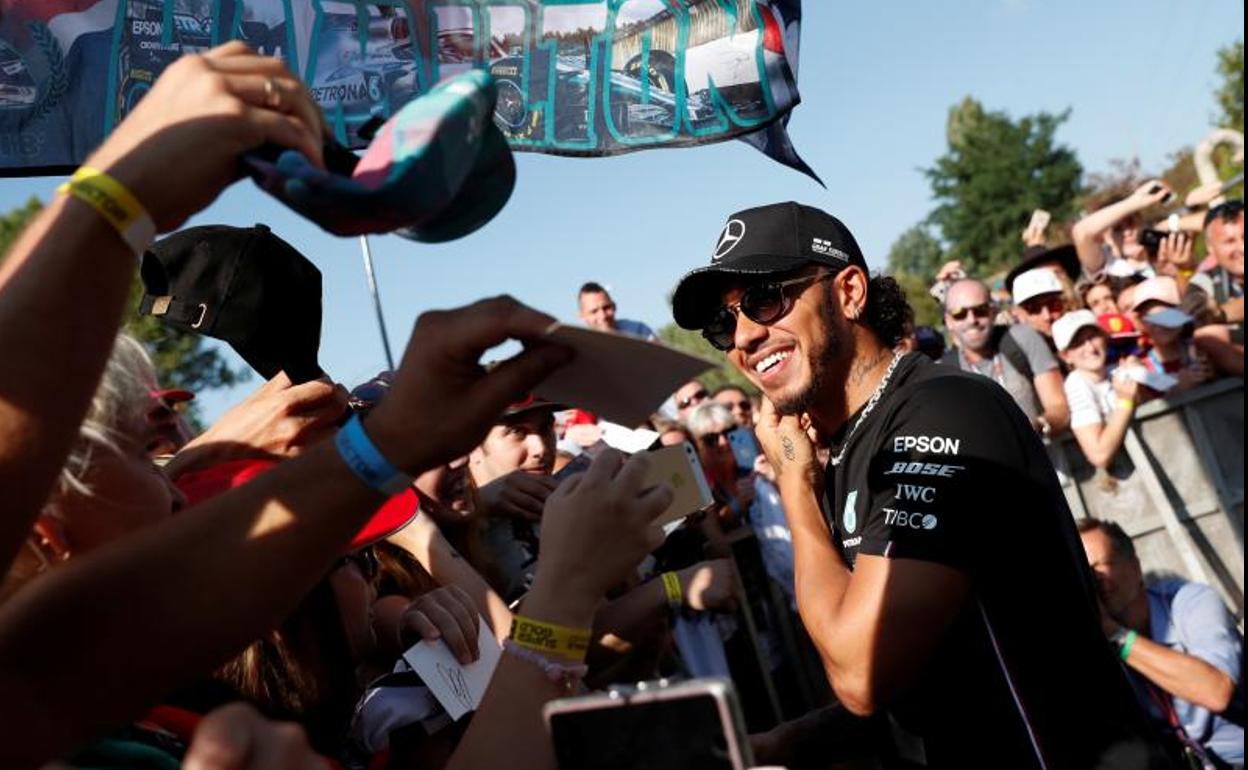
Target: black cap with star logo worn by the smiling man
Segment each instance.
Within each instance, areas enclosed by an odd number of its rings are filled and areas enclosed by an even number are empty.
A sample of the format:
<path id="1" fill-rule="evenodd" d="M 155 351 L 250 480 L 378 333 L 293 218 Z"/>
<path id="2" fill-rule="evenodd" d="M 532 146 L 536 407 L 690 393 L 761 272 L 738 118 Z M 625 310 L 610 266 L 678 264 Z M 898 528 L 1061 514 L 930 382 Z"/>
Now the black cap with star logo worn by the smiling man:
<path id="1" fill-rule="evenodd" d="M 671 296 L 671 314 L 686 329 L 700 329 L 719 309 L 733 276 L 764 276 L 824 265 L 851 265 L 867 272 L 862 250 L 844 222 L 801 203 L 746 208 L 728 217 L 710 265 L 685 275 Z"/>

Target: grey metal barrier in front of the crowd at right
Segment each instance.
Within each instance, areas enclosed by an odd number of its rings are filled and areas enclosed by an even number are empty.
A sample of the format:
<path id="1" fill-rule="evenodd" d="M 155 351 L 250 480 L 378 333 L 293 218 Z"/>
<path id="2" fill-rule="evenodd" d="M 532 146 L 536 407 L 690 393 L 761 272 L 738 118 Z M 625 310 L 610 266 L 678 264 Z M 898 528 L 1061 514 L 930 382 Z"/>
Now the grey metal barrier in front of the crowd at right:
<path id="1" fill-rule="evenodd" d="M 1108 473 L 1071 437 L 1050 454 L 1076 519 L 1117 522 L 1144 570 L 1213 585 L 1243 623 L 1243 379 L 1141 406 Z"/>

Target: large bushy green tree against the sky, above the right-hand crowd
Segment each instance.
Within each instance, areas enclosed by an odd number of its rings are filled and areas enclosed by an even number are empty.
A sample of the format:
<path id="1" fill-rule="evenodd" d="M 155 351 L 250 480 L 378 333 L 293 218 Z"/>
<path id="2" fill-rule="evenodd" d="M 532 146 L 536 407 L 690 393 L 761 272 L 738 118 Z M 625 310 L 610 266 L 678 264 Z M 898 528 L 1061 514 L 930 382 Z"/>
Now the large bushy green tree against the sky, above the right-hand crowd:
<path id="1" fill-rule="evenodd" d="M 1057 129 L 1070 117 L 1040 112 L 1012 120 L 970 96 L 950 110 L 948 150 L 926 168 L 938 206 L 929 222 L 973 273 L 1018 261 L 1020 236 L 1036 208 L 1061 222 L 1075 216 L 1083 168 Z"/>

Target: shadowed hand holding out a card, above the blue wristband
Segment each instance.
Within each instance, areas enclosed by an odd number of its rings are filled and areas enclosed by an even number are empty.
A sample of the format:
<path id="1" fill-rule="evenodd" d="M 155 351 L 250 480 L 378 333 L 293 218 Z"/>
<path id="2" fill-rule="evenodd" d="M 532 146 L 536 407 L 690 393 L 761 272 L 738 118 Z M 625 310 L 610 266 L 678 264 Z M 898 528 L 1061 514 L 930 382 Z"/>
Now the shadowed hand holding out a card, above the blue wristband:
<path id="1" fill-rule="evenodd" d="M 408 473 L 468 454 L 508 404 L 570 361 L 572 351 L 543 339 L 553 322 L 510 297 L 422 314 L 394 384 L 366 419 L 368 436 Z M 524 351 L 487 373 L 480 357 L 509 339 Z"/>

